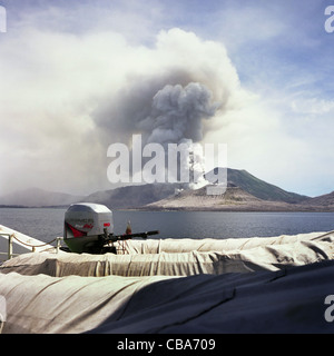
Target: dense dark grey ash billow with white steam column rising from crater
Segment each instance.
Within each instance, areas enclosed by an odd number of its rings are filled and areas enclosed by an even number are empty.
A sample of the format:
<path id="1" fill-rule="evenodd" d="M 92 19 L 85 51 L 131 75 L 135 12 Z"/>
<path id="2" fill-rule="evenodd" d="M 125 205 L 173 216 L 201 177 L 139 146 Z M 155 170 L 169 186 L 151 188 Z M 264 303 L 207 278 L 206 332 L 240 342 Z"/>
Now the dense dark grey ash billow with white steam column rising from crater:
<path id="1" fill-rule="evenodd" d="M 166 155 L 168 144 L 183 145 L 188 158 L 180 164 L 188 166 L 186 169 L 193 180 L 189 188 L 208 184 L 203 177 L 205 162 L 199 141 L 203 139 L 203 120 L 214 117 L 218 107 L 212 103 L 212 92 L 198 82 L 186 87 L 168 85 L 154 96 L 150 115 L 137 123 L 144 144 L 160 144 Z"/>

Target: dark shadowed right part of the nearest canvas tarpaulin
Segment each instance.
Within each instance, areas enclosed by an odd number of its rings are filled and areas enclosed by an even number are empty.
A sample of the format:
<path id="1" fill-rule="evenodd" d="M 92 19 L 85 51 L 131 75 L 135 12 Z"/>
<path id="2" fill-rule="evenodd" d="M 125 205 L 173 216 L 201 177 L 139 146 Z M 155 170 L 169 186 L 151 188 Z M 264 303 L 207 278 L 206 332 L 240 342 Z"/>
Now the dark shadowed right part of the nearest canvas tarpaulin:
<path id="1" fill-rule="evenodd" d="M 92 333 L 333 333 L 324 317 L 333 274 L 330 261 L 161 280 L 139 290 L 120 319 L 111 317 Z"/>

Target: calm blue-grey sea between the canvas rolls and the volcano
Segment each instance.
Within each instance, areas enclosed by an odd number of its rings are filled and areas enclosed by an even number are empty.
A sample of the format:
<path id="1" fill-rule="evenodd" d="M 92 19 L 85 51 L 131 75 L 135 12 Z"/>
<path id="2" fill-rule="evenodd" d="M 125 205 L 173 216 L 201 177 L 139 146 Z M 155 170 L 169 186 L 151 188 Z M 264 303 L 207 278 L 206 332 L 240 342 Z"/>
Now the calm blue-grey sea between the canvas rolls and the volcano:
<path id="1" fill-rule="evenodd" d="M 62 236 L 66 209 L 1 208 L 0 225 L 49 241 Z M 160 230 L 153 238 L 236 238 L 334 230 L 334 212 L 116 211 L 115 234 Z"/>

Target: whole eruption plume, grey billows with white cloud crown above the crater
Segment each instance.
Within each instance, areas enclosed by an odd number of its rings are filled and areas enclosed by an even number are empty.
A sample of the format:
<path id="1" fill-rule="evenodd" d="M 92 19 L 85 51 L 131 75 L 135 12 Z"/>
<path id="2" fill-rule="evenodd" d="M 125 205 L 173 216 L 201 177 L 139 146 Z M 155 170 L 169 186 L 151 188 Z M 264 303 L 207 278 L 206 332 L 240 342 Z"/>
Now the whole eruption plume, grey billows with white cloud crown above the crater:
<path id="1" fill-rule="evenodd" d="M 163 145 L 166 154 L 168 144 L 185 144 L 190 178 L 197 177 L 189 187 L 199 188 L 208 184 L 200 142 L 226 125 L 225 115 L 238 108 L 243 97 L 236 70 L 222 44 L 179 29 L 161 32 L 151 56 L 149 62 L 156 57 L 160 67 L 128 76 L 116 98 L 98 108 L 96 123 L 106 145 L 121 141 L 130 147 L 134 134 L 141 134 L 143 146 Z"/>

